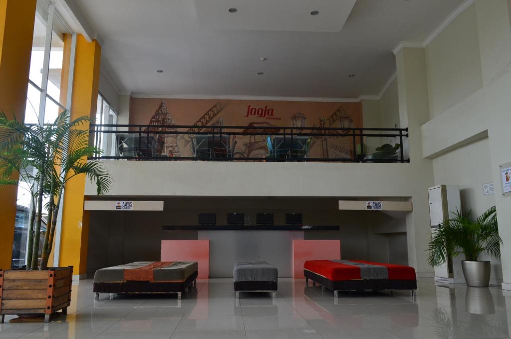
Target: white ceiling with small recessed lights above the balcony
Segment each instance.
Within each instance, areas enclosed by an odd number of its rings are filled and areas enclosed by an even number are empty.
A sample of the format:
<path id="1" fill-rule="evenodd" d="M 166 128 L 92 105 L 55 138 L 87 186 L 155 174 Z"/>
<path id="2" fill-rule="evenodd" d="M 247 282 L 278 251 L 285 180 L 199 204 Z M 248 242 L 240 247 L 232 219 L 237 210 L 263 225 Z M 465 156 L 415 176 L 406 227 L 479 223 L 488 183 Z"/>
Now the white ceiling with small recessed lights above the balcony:
<path id="1" fill-rule="evenodd" d="M 101 38 L 102 69 L 123 94 L 309 98 L 378 95 L 396 69 L 392 48 L 423 41 L 463 2 L 68 1 Z"/>

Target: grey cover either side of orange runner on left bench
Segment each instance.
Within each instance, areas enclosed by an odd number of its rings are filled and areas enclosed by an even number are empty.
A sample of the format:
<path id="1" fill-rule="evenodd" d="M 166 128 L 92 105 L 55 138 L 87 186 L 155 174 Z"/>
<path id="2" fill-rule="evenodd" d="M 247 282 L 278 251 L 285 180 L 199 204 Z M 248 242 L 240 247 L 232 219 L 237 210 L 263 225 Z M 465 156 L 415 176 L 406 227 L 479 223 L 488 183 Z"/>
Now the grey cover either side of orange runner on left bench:
<path id="1" fill-rule="evenodd" d="M 136 261 L 129 264 L 105 267 L 98 269 L 94 275 L 95 283 L 121 282 L 124 280 L 124 270 L 143 267 L 154 261 Z M 172 266 L 156 268 L 154 270 L 154 281 L 184 281 L 198 270 L 196 261 L 175 261 Z"/>

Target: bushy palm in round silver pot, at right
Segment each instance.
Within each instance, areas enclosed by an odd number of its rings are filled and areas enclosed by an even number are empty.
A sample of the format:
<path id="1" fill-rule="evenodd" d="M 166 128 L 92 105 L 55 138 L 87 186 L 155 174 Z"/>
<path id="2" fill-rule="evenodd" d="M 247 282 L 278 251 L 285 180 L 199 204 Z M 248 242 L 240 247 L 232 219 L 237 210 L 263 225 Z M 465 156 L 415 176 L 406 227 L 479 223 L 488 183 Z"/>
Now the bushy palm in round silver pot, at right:
<path id="1" fill-rule="evenodd" d="M 449 258 L 464 254 L 461 268 L 467 285 L 487 287 L 490 285 L 490 261 L 478 259 L 482 253 L 500 258 L 501 242 L 495 206 L 475 220 L 471 211 L 456 211 L 432 233 L 428 262 L 431 266 L 443 265 Z"/>

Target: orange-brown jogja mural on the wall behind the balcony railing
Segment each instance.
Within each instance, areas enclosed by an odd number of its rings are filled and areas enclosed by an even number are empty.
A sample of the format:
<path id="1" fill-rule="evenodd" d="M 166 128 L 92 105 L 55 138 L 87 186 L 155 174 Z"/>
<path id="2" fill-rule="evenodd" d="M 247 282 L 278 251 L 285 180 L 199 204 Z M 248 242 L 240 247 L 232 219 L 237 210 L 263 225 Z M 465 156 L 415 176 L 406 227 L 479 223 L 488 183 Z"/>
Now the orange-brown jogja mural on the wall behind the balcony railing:
<path id="1" fill-rule="evenodd" d="M 266 133 L 282 132 L 284 127 L 293 126 L 322 127 L 329 133 L 339 134 L 338 137 L 313 137 L 308 157 L 353 158 L 353 138 L 328 128 L 362 127 L 362 105 L 360 102 L 132 98 L 130 124 L 149 124 L 149 131 L 166 132 L 154 135 L 158 138 L 157 153 L 167 156 L 194 156 L 194 133 L 207 131 L 207 126 L 246 126 L 239 131 L 258 131 L 261 135 L 231 136 L 228 144 L 233 155 L 265 157 L 268 154 Z M 175 125 L 194 127 L 180 128 L 187 133 L 176 134 Z M 264 126 L 271 129 L 261 129 Z"/>

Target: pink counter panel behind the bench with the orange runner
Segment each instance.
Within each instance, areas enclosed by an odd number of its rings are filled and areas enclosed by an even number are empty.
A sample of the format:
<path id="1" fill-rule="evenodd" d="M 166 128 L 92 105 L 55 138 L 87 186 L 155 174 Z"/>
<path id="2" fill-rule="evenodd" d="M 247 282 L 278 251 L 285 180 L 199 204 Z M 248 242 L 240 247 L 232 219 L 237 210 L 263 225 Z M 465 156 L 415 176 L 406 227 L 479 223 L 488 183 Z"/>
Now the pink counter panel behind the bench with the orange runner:
<path id="1" fill-rule="evenodd" d="M 197 261 L 199 279 L 210 277 L 209 240 L 161 240 L 161 261 Z"/>

